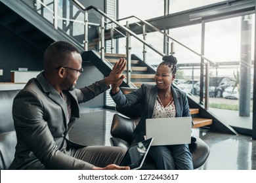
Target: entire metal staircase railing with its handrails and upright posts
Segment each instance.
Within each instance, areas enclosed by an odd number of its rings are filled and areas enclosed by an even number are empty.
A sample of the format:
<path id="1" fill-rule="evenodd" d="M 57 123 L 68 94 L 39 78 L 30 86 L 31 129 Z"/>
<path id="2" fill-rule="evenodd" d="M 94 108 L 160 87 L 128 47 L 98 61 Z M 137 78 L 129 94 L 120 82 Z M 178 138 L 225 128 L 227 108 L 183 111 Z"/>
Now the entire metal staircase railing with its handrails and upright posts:
<path id="1" fill-rule="evenodd" d="M 21 0 L 22 1 L 22 0 Z M 79 1 L 77 0 L 70 0 L 69 3 L 74 3 L 75 5 L 77 5 L 77 8 L 79 10 L 77 10 L 79 13 L 76 14 L 76 17 L 74 17 L 74 19 L 72 18 L 64 18 L 64 17 L 60 17 L 58 16 L 58 0 L 53 0 L 48 4 L 43 3 L 43 1 L 39 1 L 36 0 L 36 3 L 41 4 L 42 7 L 45 7 L 50 13 L 51 16 L 53 18 L 53 25 L 55 29 L 59 29 L 59 25 L 60 22 L 58 22 L 58 20 L 62 20 L 64 22 L 72 22 L 72 24 L 82 24 L 81 27 L 84 27 L 83 30 L 83 42 L 80 42 L 81 45 L 83 44 L 85 51 L 88 50 L 89 48 L 89 26 L 91 25 L 96 25 L 96 26 L 100 26 L 100 55 L 101 55 L 101 59 L 105 59 L 104 56 L 104 52 L 105 52 L 105 30 L 106 30 L 106 24 L 115 24 L 117 27 L 114 27 L 114 29 L 116 31 L 118 31 L 118 29 L 121 29 L 123 32 L 125 32 L 125 35 L 123 35 L 124 37 L 126 37 L 126 55 L 127 55 L 127 84 L 131 84 L 131 37 L 134 37 L 135 39 L 137 39 L 137 41 L 141 42 L 143 44 L 143 52 L 144 52 L 144 61 L 146 59 L 146 48 L 150 48 L 151 50 L 153 50 L 156 54 L 158 54 L 159 56 L 164 56 L 165 54 L 163 52 L 161 52 L 160 50 L 158 50 L 157 48 L 155 48 L 154 46 L 152 46 L 151 44 L 148 43 L 148 41 L 146 41 L 145 37 L 144 39 L 141 39 L 136 33 L 134 33 L 133 31 L 131 31 L 131 29 L 129 29 L 129 23 L 127 22 L 127 25 L 121 25 L 119 24 L 118 20 L 114 20 L 114 18 L 111 18 L 110 16 L 108 16 L 108 14 L 106 14 L 105 12 L 103 12 L 102 10 L 95 8 L 93 6 L 87 7 L 85 8 L 81 3 L 79 3 Z M 88 12 L 90 10 L 95 11 L 96 13 L 100 14 L 101 16 L 101 20 L 98 23 L 95 22 L 89 22 L 89 16 L 88 16 Z M 39 11 L 39 10 L 37 10 Z M 75 19 L 78 17 L 78 14 L 83 14 L 83 20 L 81 20 L 81 18 L 79 20 Z M 125 19 L 128 18 L 137 18 L 136 16 L 130 16 L 127 17 Z M 108 21 L 106 21 L 108 20 Z M 123 19 L 124 20 L 124 19 Z M 138 24 L 143 24 L 142 26 L 148 26 L 151 27 L 152 29 L 154 29 L 154 31 L 161 33 L 163 36 L 171 39 L 172 41 L 172 45 L 173 46 L 173 42 L 176 42 L 177 44 L 180 44 L 181 46 L 183 46 L 184 48 L 186 48 L 186 50 L 189 50 L 190 52 L 196 54 L 196 56 L 199 56 L 201 58 L 201 64 L 205 65 L 205 81 L 203 82 L 203 84 L 205 84 L 205 109 L 208 109 L 208 102 L 207 102 L 207 98 L 208 96 L 208 87 L 209 87 L 209 63 L 211 64 L 215 64 L 213 61 L 211 61 L 208 58 L 205 58 L 205 56 L 203 56 L 202 54 L 199 54 L 198 52 L 195 52 L 194 50 L 192 50 L 191 48 L 188 48 L 188 46 L 182 44 L 181 42 L 177 41 L 176 39 L 173 39 L 173 37 L 171 37 L 170 35 L 168 35 L 167 33 L 162 32 L 160 29 L 154 27 L 154 25 L 149 24 L 148 22 L 141 20 L 140 18 L 137 18 L 137 20 L 139 20 L 140 22 Z M 117 29 L 118 28 L 118 29 Z M 146 28 L 143 28 L 144 31 L 146 31 Z M 144 32 L 143 35 L 146 35 L 146 32 Z M 171 53 L 173 53 L 173 51 L 171 51 Z"/>

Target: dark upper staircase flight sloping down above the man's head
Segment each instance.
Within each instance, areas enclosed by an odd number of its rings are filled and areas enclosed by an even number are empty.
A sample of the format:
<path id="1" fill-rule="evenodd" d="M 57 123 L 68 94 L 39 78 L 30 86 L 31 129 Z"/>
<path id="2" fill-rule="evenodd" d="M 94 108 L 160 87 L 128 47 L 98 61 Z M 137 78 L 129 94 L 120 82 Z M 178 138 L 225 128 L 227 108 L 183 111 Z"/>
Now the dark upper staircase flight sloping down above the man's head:
<path id="1" fill-rule="evenodd" d="M 22 1 L 0 1 L 0 25 L 42 53 L 57 40 L 71 42 L 83 51 L 78 41 L 63 31 L 54 29 L 49 21 Z"/>

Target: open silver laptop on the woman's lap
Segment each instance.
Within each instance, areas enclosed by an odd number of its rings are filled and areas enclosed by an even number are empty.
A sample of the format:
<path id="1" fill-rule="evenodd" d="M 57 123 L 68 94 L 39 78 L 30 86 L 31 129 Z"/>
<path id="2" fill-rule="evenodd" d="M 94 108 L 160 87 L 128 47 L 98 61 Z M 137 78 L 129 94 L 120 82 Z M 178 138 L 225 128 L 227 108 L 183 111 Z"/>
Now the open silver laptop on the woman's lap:
<path id="1" fill-rule="evenodd" d="M 154 138 L 152 146 L 190 144 L 192 118 L 146 119 L 146 139 Z"/>

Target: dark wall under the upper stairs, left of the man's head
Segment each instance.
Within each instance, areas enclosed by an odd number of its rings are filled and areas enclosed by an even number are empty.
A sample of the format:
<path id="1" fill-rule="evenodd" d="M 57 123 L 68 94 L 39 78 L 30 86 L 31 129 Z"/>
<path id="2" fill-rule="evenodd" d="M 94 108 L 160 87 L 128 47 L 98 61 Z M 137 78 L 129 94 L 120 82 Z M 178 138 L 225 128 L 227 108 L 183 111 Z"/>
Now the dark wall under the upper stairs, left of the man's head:
<path id="1" fill-rule="evenodd" d="M 11 71 L 18 71 L 19 67 L 28 71 L 43 69 L 43 53 L 1 25 L 0 40 L 0 82 L 11 82 Z"/>

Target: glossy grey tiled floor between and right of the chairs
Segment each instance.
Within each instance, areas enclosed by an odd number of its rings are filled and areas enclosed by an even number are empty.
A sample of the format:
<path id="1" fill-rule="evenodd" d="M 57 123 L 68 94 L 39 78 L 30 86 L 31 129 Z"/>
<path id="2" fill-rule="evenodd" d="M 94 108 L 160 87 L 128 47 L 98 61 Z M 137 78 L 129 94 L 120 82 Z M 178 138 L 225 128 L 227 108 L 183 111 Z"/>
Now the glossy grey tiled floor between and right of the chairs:
<path id="1" fill-rule="evenodd" d="M 116 112 L 102 108 L 81 110 L 80 120 L 70 138 L 81 144 L 110 146 L 110 127 Z M 79 135 L 78 135 L 79 134 Z M 209 129 L 192 129 L 210 147 L 210 155 L 202 170 L 256 170 L 256 141 L 245 135 L 227 135 Z"/>

